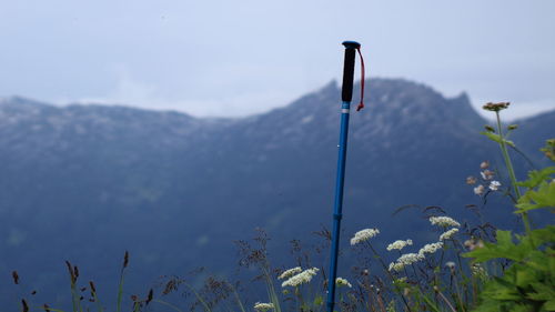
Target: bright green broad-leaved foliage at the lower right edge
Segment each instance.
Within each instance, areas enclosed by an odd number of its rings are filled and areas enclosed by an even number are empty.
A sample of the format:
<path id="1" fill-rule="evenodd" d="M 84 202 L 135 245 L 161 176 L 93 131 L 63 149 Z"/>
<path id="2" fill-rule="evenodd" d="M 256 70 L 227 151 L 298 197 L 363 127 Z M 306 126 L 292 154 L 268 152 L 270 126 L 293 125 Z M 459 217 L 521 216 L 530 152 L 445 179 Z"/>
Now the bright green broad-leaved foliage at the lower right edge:
<path id="1" fill-rule="evenodd" d="M 555 207 L 555 182 L 551 177 L 554 172 L 553 167 L 533 171 L 528 180 L 518 183 L 528 188 L 516 204 L 518 213 Z M 475 262 L 512 261 L 503 276 L 494 276 L 486 283 L 474 311 L 555 311 L 555 227 L 547 225 L 515 238 L 516 243 L 511 231 L 498 230 L 496 243 L 485 242 L 484 246 L 463 255 Z"/>

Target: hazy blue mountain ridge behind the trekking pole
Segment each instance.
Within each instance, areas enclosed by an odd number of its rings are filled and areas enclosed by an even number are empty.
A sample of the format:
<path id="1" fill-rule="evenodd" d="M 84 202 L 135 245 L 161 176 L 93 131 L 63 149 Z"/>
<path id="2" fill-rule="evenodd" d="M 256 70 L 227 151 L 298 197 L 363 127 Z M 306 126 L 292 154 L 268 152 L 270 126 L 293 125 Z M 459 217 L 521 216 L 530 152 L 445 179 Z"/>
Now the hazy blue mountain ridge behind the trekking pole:
<path id="1" fill-rule="evenodd" d="M 466 177 L 477 175 L 485 159 L 502 162 L 478 134 L 486 121 L 468 97 L 447 99 L 406 80 L 367 85 L 366 108 L 351 117 L 342 244 L 369 227 L 381 229 L 382 244 L 426 243 L 422 209 L 392 217 L 406 204 L 440 205 L 472 220 L 465 204 L 482 201 Z M 242 119 L 2 100 L 0 273 L 17 269 L 38 295 L 62 302 L 64 260 L 108 292 L 129 250 L 130 291 L 142 291 L 160 274 L 199 265 L 230 272 L 233 241 L 251 238 L 256 227 L 273 238 L 276 263 L 291 264 L 287 242 L 331 224 L 339 103 L 335 82 Z M 513 139 L 539 159 L 555 112 L 519 124 Z M 500 217 L 507 205 L 495 202 L 485 213 L 513 224 Z M 0 289 L 2 303 L 19 295 L 7 279 Z"/>

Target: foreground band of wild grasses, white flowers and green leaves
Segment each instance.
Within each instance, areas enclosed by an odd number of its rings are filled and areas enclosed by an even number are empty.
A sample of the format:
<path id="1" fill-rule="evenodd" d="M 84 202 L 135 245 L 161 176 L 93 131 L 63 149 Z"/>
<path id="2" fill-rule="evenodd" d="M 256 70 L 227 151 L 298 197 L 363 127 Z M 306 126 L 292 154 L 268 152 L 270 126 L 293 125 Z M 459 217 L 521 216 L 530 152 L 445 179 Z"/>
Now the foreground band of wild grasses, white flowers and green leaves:
<path id="1" fill-rule="evenodd" d="M 438 207 L 423 211 L 437 232 L 437 240 L 420 248 L 414 246 L 410 238 L 379 246 L 373 243 L 373 238 L 380 234 L 380 230 L 363 229 L 351 239 L 352 249 L 357 254 L 352 275 L 336 280 L 336 310 L 555 311 L 555 227 L 535 229 L 529 220 L 534 210 L 553 213 L 555 167 L 533 170 L 527 180 L 517 181 L 508 153 L 516 147 L 507 139 L 516 125 L 504 129 L 500 118 L 500 112 L 507 107 L 508 103 L 484 105 L 485 110 L 495 113 L 496 127 L 487 125 L 482 132 L 500 145 L 504 170 L 491 170 L 490 163 L 484 161 L 480 164 L 480 175 L 468 177 L 466 183 L 484 202 L 492 193 L 505 195 L 514 205 L 514 213 L 521 218 L 524 232 L 497 230 L 481 220 L 480 209 L 476 209 L 478 223 L 461 224 Z M 542 151 L 555 161 L 555 139 L 547 140 Z M 497 177 L 505 174 L 508 180 L 502 183 Z M 157 290 L 150 289 L 141 296 L 124 294 L 124 273 L 129 265 L 129 253 L 125 252 L 115 309 L 102 304 L 94 283 L 82 284 L 78 266 L 67 262 L 71 311 L 324 311 L 326 263 L 314 264 L 311 254 L 327 252 L 330 232 L 322 229 L 315 233 L 323 238 L 323 242 L 311 252 L 303 250 L 300 241 L 293 241 L 292 250 L 299 265 L 291 269 L 271 265 L 266 249 L 269 238 L 262 230 L 258 233 L 253 242 L 236 242 L 240 266 L 246 269 L 245 272 L 258 270 L 253 280 L 265 284 L 265 296 L 258 302 L 249 303 L 243 299 L 250 293 L 244 283 L 215 275 L 209 275 L 201 286 L 189 283 L 189 279 L 165 276 Z M 386 262 L 392 254 L 396 260 Z M 373 269 L 375 266 L 380 269 Z M 12 279 L 17 286 L 21 286 L 17 271 L 12 272 Z M 170 300 L 172 293 L 183 296 L 175 303 Z M 48 304 L 36 304 L 32 295 L 21 299 L 21 311 L 62 311 Z M 124 299 L 131 301 L 131 306 L 122 306 Z"/>

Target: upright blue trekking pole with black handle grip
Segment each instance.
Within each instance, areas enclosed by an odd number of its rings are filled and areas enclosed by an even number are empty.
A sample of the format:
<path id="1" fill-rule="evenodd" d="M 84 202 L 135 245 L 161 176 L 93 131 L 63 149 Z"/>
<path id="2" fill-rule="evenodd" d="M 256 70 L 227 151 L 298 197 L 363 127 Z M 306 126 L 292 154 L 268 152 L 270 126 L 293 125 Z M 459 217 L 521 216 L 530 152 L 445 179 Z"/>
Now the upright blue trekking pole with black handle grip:
<path id="1" fill-rule="evenodd" d="M 340 231 L 343 209 L 343 184 L 345 181 L 345 160 L 349 135 L 349 117 L 353 98 L 354 59 L 356 49 L 361 47 L 354 41 L 343 42 L 345 60 L 343 66 L 343 87 L 341 91 L 341 132 L 337 158 L 337 177 L 335 181 L 335 202 L 333 208 L 332 250 L 330 261 L 330 279 L 327 281 L 327 312 L 333 312 L 335 304 L 335 279 L 337 278 L 337 254 L 340 246 Z"/>

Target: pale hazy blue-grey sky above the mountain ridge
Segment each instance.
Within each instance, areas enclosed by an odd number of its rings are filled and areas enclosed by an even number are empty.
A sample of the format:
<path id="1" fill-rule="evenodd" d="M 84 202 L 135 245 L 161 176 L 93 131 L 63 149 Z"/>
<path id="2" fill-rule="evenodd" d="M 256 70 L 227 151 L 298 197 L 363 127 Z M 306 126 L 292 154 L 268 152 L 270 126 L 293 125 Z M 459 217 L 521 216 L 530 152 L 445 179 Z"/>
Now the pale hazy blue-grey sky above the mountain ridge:
<path id="1" fill-rule="evenodd" d="M 245 115 L 341 79 L 406 78 L 512 115 L 555 108 L 555 1 L 0 0 L 0 97 Z"/>

